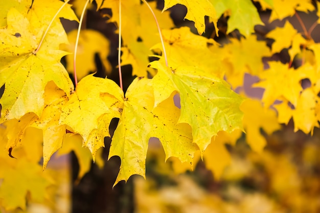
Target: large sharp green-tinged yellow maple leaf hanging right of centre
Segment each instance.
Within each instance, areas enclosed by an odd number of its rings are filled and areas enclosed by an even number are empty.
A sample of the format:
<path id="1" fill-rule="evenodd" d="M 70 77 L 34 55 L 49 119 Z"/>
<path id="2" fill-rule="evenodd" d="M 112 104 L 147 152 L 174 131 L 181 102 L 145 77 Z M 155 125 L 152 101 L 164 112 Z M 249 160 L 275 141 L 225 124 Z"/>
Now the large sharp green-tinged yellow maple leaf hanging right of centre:
<path id="1" fill-rule="evenodd" d="M 201 153 L 219 131 L 242 129 L 243 113 L 239 107 L 243 98 L 225 81 L 191 66 L 171 69 L 159 61 L 152 62 L 151 66 L 158 69 L 159 75 L 152 80 L 155 102 L 170 97 L 174 91 L 179 92 L 181 115 L 178 122 L 192 127 L 193 142 Z M 166 87 L 171 91 L 163 90 Z"/>

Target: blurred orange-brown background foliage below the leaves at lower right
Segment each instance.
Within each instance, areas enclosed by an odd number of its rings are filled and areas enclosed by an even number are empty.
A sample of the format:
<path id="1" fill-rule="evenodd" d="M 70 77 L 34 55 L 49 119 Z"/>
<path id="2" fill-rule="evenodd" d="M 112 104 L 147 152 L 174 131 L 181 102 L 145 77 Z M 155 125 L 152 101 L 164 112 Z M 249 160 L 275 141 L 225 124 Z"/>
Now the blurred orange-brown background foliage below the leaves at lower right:
<path id="1" fill-rule="evenodd" d="M 135 212 L 319 212 L 320 131 L 307 136 L 292 124 L 267 138 L 261 154 L 241 137 L 227 146 L 232 162 L 220 180 L 199 161 L 176 175 L 161 147 L 149 149 L 146 181 L 134 178 Z"/>

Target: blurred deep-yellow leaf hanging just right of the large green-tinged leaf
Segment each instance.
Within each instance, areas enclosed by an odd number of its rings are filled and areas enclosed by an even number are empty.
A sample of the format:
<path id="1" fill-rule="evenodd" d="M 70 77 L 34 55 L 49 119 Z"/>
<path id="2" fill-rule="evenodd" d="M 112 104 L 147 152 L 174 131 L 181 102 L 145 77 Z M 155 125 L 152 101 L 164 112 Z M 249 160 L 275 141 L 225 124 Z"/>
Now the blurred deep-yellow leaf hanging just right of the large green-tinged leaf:
<path id="1" fill-rule="evenodd" d="M 244 112 L 243 128 L 246 132 L 246 141 L 252 150 L 261 153 L 267 141 L 260 129 L 271 134 L 281 128 L 277 122 L 276 111 L 264 109 L 259 100 L 252 99 L 245 100 L 240 108 Z"/>

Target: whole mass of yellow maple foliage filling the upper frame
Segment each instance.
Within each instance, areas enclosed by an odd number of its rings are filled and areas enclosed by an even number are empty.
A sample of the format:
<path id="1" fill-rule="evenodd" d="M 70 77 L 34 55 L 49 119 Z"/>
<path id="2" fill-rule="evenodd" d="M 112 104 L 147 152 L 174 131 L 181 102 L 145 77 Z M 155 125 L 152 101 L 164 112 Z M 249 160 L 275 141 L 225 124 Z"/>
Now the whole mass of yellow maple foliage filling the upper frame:
<path id="1" fill-rule="evenodd" d="M 291 118 L 295 131 L 312 134 L 320 121 L 320 46 L 311 33 L 320 21 L 308 31 L 297 11 L 309 13 L 320 5 L 308 0 L 254 2 L 165 0 L 161 12 L 156 2 L 77 0 L 80 21 L 68 1 L 1 2 L 1 206 L 25 209 L 26 199 L 48 199 L 46 188 L 54 180 L 50 169 L 44 169 L 55 152 L 76 153 L 79 179 L 89 170 L 91 159 L 102 167 L 100 148 L 104 138 L 110 137 L 113 118 L 119 123 L 108 158 L 121 159 L 115 185 L 134 174 L 145 177 L 151 137 L 159 139 L 165 160 L 172 161 L 177 172 L 192 170 L 202 158 L 220 178 L 231 163 L 224 145 L 234 145 L 241 132 L 258 153 L 266 145 L 260 129 L 271 134 Z M 112 11 L 108 22 L 118 28 L 120 86 L 89 74 L 97 69 L 95 54 L 110 74 L 109 41 L 95 30 L 67 34 L 60 21 L 79 21 L 80 29 L 88 3 L 97 10 Z M 185 18 L 194 22 L 194 33 L 188 27 L 174 28 L 168 10 L 176 4 L 187 8 Z M 255 26 L 264 22 L 257 5 L 271 11 L 268 22 L 296 16 L 304 32 L 285 21 L 258 38 Z M 217 25 L 221 16 L 229 17 L 226 30 Z M 211 38 L 201 36 L 210 23 L 214 26 Z M 233 36 L 235 31 L 239 37 Z M 225 35 L 226 41 L 214 40 L 218 35 Z M 271 48 L 267 38 L 274 40 Z M 289 61 L 270 61 L 281 51 L 287 52 Z M 296 61 L 301 63 L 293 67 Z M 127 64 L 136 78 L 124 93 L 121 66 Z M 68 72 L 74 75 L 75 86 Z M 242 89 L 248 74 L 259 78 L 253 87 L 264 88 L 261 101 Z M 305 79 L 310 85 L 302 84 Z M 19 176 L 26 178 L 17 181 Z"/>

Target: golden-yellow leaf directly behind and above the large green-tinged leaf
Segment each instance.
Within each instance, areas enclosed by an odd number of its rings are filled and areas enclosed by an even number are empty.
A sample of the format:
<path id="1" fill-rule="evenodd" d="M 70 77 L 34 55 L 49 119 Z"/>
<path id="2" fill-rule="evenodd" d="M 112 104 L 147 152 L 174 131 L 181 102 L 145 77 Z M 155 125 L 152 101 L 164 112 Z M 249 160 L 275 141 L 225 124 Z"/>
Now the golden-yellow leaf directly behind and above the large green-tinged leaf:
<path id="1" fill-rule="evenodd" d="M 219 44 L 213 39 L 195 35 L 188 27 L 163 30 L 162 35 L 168 63 L 172 68 L 184 64 L 208 70 L 217 77 L 223 78 L 224 69 L 221 64 L 223 54 L 220 54 Z M 153 49 L 162 50 L 161 43 L 154 45 Z"/>

